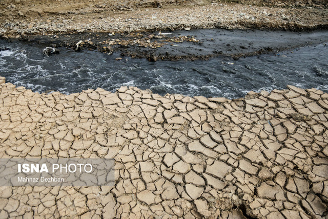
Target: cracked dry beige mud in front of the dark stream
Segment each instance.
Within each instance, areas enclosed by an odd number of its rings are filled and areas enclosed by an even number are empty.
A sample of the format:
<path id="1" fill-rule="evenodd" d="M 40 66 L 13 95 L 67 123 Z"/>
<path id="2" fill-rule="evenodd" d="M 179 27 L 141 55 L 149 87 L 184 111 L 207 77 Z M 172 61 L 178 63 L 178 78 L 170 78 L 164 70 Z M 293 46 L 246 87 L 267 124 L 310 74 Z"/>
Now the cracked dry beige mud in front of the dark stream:
<path id="1" fill-rule="evenodd" d="M 114 158 L 114 187 L 1 187 L 0 217 L 323 218 L 328 94 L 134 87 L 33 93 L 0 78 L 0 157 Z"/>

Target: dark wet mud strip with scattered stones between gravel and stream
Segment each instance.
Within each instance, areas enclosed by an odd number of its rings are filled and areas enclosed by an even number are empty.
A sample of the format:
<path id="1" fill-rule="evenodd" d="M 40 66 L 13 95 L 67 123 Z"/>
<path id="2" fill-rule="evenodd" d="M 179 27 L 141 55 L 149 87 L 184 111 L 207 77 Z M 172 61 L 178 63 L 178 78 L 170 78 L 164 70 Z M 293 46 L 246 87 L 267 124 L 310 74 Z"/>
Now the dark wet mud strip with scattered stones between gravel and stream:
<path id="1" fill-rule="evenodd" d="M 95 50 L 120 57 L 146 58 L 148 61 L 207 60 L 228 56 L 234 59 L 274 53 L 311 44 L 326 44 L 328 32 L 292 32 L 257 29 L 194 29 L 132 33 L 80 33 L 30 36 L 9 42 L 61 47 L 73 51 Z M 42 51 L 40 51 L 42 52 Z M 120 58 L 117 59 L 119 61 Z"/>

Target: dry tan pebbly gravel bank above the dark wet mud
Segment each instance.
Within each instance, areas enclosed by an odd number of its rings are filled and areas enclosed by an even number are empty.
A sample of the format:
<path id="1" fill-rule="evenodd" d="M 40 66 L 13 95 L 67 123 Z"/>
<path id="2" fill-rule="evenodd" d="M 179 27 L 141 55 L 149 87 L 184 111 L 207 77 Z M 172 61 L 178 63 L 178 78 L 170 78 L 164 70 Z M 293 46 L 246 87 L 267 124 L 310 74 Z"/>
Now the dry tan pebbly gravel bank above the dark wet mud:
<path id="1" fill-rule="evenodd" d="M 281 8 L 232 3 L 162 4 L 160 7 L 100 6 L 90 2 L 68 4 L 2 3 L 0 36 L 70 33 L 124 33 L 202 28 L 257 28 L 283 30 L 327 29 L 328 9 Z M 83 2 L 83 1 L 81 1 Z M 114 11 L 113 11 L 114 10 Z"/>

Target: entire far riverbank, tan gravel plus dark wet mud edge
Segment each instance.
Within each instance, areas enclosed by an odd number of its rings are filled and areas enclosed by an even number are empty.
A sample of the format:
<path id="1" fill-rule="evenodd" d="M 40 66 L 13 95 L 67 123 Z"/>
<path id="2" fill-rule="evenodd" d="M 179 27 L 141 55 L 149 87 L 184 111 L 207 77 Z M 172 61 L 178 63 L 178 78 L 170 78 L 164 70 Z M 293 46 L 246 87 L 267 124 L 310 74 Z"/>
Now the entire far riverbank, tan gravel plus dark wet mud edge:
<path id="1" fill-rule="evenodd" d="M 327 41 L 324 33 L 322 37 L 317 34 L 328 27 L 328 9 L 320 4 L 306 8 L 289 4 L 282 8 L 254 2 L 252 5 L 163 2 L 158 7 L 132 4 L 115 8 L 83 1 L 54 5 L 42 1 L 34 5 L 17 2 L 0 5 L 3 15 L 0 37 L 9 42 L 17 39 L 75 51 L 121 52 L 121 56 L 147 58 L 152 62 L 222 55 L 237 59 Z M 265 33 L 268 30 L 281 36 L 271 38 Z M 247 34 L 250 35 L 247 42 L 239 42 L 238 37 L 244 31 L 255 33 Z M 313 31 L 314 37 L 299 37 L 295 31 L 305 35 L 311 35 L 306 31 Z"/>

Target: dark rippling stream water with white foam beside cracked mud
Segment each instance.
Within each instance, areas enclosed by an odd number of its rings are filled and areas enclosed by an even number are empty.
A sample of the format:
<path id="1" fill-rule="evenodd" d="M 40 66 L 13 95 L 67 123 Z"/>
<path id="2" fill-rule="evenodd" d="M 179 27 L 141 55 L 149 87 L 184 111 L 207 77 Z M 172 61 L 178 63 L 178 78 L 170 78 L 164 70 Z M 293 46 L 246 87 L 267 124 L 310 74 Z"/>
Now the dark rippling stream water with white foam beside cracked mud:
<path id="1" fill-rule="evenodd" d="M 179 93 L 238 98 L 253 90 L 285 89 L 286 85 L 328 92 L 328 46 L 320 43 L 272 54 L 208 61 L 159 61 L 107 55 L 96 51 L 42 54 L 40 45 L 0 41 L 0 76 L 35 92 L 75 93 L 88 88 L 109 91 L 121 86 Z"/>

